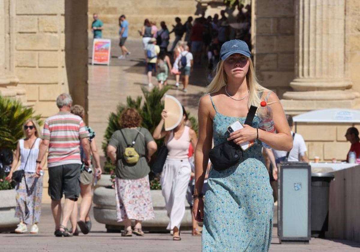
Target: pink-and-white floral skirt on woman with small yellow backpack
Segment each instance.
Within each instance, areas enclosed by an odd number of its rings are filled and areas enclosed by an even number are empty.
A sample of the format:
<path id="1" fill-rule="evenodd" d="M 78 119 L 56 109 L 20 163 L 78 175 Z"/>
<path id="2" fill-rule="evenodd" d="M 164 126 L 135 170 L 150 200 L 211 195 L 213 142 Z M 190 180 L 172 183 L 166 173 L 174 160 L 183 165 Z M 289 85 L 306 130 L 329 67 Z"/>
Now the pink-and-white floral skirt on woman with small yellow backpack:
<path id="1" fill-rule="evenodd" d="M 149 176 L 141 179 L 115 179 L 116 219 L 151 220 L 155 218 Z"/>

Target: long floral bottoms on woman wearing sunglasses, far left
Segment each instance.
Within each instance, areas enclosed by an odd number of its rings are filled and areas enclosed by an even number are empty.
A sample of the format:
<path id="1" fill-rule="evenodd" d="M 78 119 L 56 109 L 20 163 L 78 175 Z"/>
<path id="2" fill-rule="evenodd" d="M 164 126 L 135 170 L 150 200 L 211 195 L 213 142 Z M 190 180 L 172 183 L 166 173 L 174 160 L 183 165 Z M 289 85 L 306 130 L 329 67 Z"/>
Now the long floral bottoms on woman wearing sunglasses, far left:
<path id="1" fill-rule="evenodd" d="M 26 191 L 26 183 L 29 191 Z M 36 224 L 40 221 L 42 176 L 34 177 L 33 172 L 25 172 L 25 177 L 16 188 L 15 217 L 25 224 Z"/>

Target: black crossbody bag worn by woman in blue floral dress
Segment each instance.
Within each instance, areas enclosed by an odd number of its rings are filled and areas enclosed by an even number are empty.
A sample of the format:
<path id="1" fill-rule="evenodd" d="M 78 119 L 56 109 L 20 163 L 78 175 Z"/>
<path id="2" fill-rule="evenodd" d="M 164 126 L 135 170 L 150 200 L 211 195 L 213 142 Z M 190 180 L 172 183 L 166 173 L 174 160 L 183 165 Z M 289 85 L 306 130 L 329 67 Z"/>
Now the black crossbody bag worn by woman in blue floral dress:
<path id="1" fill-rule="evenodd" d="M 257 107 L 251 105 L 244 124 L 252 125 Z M 212 167 L 217 171 L 223 171 L 235 165 L 243 156 L 243 150 L 232 140 L 219 144 L 209 152 Z"/>

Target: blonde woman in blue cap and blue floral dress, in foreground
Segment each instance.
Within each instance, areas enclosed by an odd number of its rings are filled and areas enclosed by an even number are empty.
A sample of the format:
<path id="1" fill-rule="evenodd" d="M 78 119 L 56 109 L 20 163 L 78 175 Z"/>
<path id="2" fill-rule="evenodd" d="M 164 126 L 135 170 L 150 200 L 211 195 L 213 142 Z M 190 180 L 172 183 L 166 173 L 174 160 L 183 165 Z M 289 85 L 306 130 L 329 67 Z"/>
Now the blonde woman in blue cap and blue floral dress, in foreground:
<path id="1" fill-rule="evenodd" d="M 224 43 L 216 75 L 199 103 L 199 140 L 195 149 L 193 213 L 204 222 L 202 251 L 269 251 L 273 228 L 273 190 L 262 157 L 261 141 L 274 149 L 289 151 L 292 137 L 283 107 L 273 92 L 258 84 L 247 44 L 241 40 Z M 274 113 L 277 134 L 252 125 L 229 135 L 227 127 L 244 123 L 250 105 L 267 100 Z M 243 152 L 237 165 L 217 171 L 211 168 L 208 190 L 201 195 L 209 151 L 226 141 L 242 144 L 256 140 Z"/>

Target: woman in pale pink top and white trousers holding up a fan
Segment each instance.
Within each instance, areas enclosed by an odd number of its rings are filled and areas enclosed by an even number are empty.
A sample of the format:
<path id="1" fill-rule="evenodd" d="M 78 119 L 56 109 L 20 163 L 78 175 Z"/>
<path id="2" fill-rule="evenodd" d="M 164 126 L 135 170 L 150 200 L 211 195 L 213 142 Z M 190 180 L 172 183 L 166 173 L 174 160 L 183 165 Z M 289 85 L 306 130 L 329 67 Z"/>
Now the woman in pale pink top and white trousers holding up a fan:
<path id="1" fill-rule="evenodd" d="M 188 159 L 189 144 L 195 149 L 197 136 L 194 130 L 185 126 L 188 119 L 185 108 L 183 107 L 183 118 L 180 124 L 171 131 L 163 129 L 166 110 L 161 113 L 161 121 L 154 130 L 153 138 L 161 139 L 165 137 L 168 154 L 165 165 L 161 173 L 161 190 L 165 198 L 165 207 L 170 222 L 168 230 L 173 231 L 173 240 L 181 240 L 180 224 L 185 214 L 185 195 L 190 180 L 191 166 Z"/>

